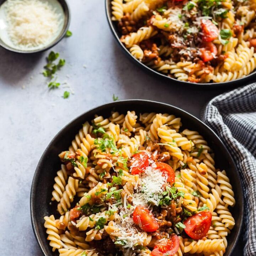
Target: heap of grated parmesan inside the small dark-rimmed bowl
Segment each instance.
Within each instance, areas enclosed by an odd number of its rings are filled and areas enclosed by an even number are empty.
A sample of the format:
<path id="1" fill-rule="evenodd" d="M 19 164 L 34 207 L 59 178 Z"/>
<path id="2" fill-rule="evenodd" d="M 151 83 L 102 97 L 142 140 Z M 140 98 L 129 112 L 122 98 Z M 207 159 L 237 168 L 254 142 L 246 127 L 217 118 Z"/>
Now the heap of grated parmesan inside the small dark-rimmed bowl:
<path id="1" fill-rule="evenodd" d="M 9 37 L 23 49 L 47 44 L 62 23 L 61 14 L 47 1 L 7 0 L 5 13 Z"/>

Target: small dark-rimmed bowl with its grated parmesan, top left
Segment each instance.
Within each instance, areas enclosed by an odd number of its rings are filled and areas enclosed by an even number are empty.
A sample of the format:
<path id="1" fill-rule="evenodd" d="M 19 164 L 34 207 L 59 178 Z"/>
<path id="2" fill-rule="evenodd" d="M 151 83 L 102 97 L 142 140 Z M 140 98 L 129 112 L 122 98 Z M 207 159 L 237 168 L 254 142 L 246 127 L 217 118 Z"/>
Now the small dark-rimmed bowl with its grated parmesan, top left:
<path id="1" fill-rule="evenodd" d="M 12 52 L 41 52 L 65 36 L 69 22 L 65 0 L 0 0 L 0 45 Z"/>

